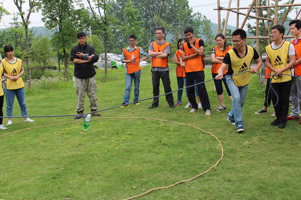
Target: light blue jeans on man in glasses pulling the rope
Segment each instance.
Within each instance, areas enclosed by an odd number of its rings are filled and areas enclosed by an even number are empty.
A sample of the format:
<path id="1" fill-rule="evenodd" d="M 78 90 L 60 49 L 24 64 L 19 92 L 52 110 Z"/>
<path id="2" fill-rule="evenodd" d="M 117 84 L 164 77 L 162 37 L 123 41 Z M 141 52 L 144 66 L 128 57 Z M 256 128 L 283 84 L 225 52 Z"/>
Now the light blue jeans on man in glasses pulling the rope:
<path id="1" fill-rule="evenodd" d="M 235 119 L 235 125 L 243 125 L 241 108 L 245 102 L 248 84 L 245 86 L 236 86 L 232 77 L 227 77 L 227 84 L 233 97 L 232 109 L 228 113 L 228 118 Z"/>

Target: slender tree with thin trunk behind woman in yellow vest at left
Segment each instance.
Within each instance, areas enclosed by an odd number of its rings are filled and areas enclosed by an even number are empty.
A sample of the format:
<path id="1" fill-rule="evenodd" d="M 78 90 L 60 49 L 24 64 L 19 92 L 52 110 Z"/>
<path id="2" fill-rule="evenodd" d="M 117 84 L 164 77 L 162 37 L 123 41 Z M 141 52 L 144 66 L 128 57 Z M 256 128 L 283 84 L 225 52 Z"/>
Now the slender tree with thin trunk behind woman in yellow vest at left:
<path id="1" fill-rule="evenodd" d="M 25 12 L 22 9 L 22 5 L 25 2 L 24 0 L 14 0 L 15 5 L 19 10 L 19 15 L 22 19 L 22 25 L 25 29 L 25 40 L 26 40 L 26 55 L 25 55 L 25 62 L 27 67 L 27 79 L 29 80 L 29 88 L 31 88 L 31 75 L 30 75 L 30 63 L 29 63 L 29 36 L 28 36 L 28 25 L 30 24 L 30 14 L 35 11 L 37 6 L 39 5 L 41 0 L 29 0 L 29 9 L 27 16 L 25 17 Z"/>

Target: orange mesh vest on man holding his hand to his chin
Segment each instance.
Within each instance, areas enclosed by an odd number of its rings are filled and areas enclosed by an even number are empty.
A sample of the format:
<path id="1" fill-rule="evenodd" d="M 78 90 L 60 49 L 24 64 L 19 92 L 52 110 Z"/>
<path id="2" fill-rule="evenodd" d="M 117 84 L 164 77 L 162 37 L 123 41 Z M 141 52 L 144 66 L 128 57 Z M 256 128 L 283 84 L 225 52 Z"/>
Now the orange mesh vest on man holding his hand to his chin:
<path id="1" fill-rule="evenodd" d="M 197 38 L 194 43 L 194 46 L 196 48 L 200 48 L 199 41 L 200 41 L 200 39 Z M 187 42 L 184 43 L 184 51 L 185 51 L 186 55 L 191 55 L 191 54 L 195 53 L 193 48 L 188 48 Z M 203 61 L 203 56 L 201 56 L 201 55 L 196 55 L 185 61 L 185 71 L 186 72 L 203 71 L 203 69 L 204 69 L 204 61 Z"/>

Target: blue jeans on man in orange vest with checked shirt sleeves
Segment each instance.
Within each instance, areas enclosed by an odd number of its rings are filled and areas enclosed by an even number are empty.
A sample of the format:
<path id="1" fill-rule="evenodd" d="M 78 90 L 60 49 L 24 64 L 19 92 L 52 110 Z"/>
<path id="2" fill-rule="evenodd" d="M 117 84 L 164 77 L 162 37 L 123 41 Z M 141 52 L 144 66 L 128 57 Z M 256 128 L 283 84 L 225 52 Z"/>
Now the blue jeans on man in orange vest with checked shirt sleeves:
<path id="1" fill-rule="evenodd" d="M 138 101 L 139 97 L 139 91 L 140 91 L 140 75 L 141 75 L 141 70 L 136 71 L 134 73 L 126 73 L 125 76 L 125 91 L 124 91 L 124 100 L 123 102 L 128 103 L 129 102 L 129 96 L 130 96 L 130 90 L 131 90 L 131 85 L 134 79 L 134 85 L 135 85 L 135 90 L 134 90 L 134 102 Z"/>

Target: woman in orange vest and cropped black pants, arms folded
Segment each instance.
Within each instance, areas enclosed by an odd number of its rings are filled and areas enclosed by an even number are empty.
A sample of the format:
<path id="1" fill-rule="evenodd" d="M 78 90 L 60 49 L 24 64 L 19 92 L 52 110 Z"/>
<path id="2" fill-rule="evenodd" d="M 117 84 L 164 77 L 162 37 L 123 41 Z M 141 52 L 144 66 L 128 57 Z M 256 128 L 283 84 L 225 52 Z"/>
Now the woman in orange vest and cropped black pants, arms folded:
<path id="1" fill-rule="evenodd" d="M 225 54 L 230 49 L 232 49 L 232 46 L 227 45 L 226 37 L 222 33 L 217 34 L 215 37 L 215 40 L 216 40 L 217 46 L 214 46 L 211 50 L 211 61 L 213 62 L 211 72 L 212 72 L 213 78 L 215 78 L 215 76 L 217 75 L 217 70 L 221 67 Z M 227 69 L 225 69 L 225 71 L 224 71 L 224 77 L 225 77 L 226 72 L 227 72 Z M 215 88 L 217 91 L 217 97 L 221 104 L 221 106 L 219 106 L 219 108 L 216 110 L 218 112 L 226 109 L 225 102 L 224 102 L 222 81 L 224 82 L 224 85 L 228 92 L 229 98 L 232 101 L 232 95 L 228 88 L 226 78 L 223 78 L 222 80 L 214 79 L 214 84 L 215 84 Z"/>

